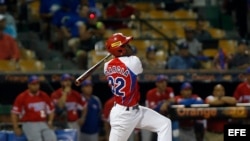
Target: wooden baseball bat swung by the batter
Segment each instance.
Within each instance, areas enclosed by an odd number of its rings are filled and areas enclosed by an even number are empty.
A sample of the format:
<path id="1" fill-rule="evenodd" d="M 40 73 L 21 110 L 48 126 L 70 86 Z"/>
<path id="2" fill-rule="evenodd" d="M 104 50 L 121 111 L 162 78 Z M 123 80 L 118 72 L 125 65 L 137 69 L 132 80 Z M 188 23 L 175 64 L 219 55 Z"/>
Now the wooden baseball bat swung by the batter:
<path id="1" fill-rule="evenodd" d="M 103 59 L 101 59 L 99 62 L 97 62 L 94 66 L 89 68 L 87 71 L 85 71 L 82 75 L 80 75 L 76 80 L 75 84 L 77 86 L 80 86 L 82 81 L 84 81 L 86 78 L 88 78 L 106 59 L 108 59 L 111 56 L 111 54 L 108 54 Z"/>

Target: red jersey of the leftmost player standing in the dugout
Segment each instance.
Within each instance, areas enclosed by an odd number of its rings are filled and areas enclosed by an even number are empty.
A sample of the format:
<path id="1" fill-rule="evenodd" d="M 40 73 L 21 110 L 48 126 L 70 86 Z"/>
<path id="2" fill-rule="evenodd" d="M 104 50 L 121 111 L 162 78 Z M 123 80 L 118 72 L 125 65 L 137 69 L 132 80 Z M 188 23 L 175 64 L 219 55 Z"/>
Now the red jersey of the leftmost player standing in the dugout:
<path id="1" fill-rule="evenodd" d="M 19 114 L 22 122 L 46 121 L 54 105 L 47 93 L 38 91 L 33 95 L 26 90 L 17 96 L 11 112 Z"/>

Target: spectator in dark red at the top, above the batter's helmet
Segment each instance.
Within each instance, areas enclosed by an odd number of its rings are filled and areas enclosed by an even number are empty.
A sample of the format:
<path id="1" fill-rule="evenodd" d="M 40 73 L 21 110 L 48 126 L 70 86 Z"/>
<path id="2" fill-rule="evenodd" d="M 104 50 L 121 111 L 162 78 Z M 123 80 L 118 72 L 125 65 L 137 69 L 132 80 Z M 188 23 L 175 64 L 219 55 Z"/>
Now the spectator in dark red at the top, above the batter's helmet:
<path id="1" fill-rule="evenodd" d="M 133 6 L 128 5 L 127 0 L 113 0 L 113 3 L 106 8 L 106 18 L 110 20 L 106 23 L 107 28 L 114 30 L 128 28 L 128 21 L 123 20 L 130 19 L 132 15 L 138 17 L 139 11 Z"/>

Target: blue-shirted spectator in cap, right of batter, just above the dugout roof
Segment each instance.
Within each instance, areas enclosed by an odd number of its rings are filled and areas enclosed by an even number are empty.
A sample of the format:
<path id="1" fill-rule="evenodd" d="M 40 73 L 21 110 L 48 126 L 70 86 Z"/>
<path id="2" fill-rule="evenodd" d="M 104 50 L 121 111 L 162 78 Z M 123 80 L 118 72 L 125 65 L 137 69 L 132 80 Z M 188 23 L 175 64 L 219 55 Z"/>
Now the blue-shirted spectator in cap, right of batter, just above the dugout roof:
<path id="1" fill-rule="evenodd" d="M 169 58 L 167 68 L 169 69 L 198 69 L 198 61 L 189 53 L 189 45 L 179 45 L 179 52 Z"/>

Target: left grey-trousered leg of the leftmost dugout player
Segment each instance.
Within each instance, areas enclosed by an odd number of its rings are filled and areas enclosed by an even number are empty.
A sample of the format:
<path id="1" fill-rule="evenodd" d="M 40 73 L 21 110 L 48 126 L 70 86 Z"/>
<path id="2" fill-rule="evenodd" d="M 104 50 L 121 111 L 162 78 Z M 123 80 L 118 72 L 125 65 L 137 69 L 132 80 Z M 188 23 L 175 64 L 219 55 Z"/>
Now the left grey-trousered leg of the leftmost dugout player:
<path id="1" fill-rule="evenodd" d="M 43 141 L 40 126 L 38 123 L 25 122 L 22 124 L 22 130 L 28 141 Z"/>

